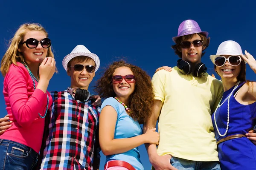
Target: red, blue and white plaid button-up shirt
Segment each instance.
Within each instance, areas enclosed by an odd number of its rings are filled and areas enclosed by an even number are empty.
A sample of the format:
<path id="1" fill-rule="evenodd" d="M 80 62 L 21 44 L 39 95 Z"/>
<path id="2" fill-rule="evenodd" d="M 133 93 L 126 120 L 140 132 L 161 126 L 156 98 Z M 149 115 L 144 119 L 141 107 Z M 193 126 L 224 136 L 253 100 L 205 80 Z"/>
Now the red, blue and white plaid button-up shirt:
<path id="1" fill-rule="evenodd" d="M 76 101 L 66 91 L 51 93 L 41 148 L 44 170 L 99 168 L 99 107 Z M 40 166 L 40 162 L 39 162 Z"/>

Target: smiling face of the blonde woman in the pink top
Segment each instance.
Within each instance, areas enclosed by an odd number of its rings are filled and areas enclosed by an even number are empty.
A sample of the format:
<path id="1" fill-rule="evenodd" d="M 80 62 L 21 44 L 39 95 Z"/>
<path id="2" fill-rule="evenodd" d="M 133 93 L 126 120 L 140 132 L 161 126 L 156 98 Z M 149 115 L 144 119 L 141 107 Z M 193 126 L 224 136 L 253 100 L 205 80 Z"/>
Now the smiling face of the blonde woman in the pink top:
<path id="1" fill-rule="evenodd" d="M 29 38 L 35 38 L 38 41 L 41 41 L 46 37 L 46 34 L 43 31 L 27 31 L 24 36 L 24 41 Z M 36 48 L 28 48 L 26 43 L 20 45 L 18 51 L 22 54 L 24 61 L 30 65 L 33 63 L 40 63 L 47 56 L 48 48 L 43 48 L 39 43 Z"/>

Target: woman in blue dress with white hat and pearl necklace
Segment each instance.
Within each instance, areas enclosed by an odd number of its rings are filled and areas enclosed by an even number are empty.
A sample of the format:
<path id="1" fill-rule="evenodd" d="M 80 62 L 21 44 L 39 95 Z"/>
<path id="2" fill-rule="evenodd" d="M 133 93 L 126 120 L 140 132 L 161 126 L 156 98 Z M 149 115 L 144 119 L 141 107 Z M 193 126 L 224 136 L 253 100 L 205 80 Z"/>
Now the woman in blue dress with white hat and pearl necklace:
<path id="1" fill-rule="evenodd" d="M 256 145 L 245 135 L 256 125 L 256 82 L 245 80 L 245 64 L 256 61 L 235 41 L 219 45 L 210 59 L 221 77 L 224 94 L 212 114 L 221 170 L 256 170 Z"/>

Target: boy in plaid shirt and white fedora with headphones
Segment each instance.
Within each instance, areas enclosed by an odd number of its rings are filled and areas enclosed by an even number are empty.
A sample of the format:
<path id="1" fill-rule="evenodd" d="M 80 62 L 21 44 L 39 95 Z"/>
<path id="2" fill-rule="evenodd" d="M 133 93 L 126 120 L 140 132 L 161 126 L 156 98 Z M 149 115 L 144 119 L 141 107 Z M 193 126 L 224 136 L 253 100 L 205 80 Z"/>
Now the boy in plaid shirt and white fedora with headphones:
<path id="1" fill-rule="evenodd" d="M 99 57 L 84 45 L 77 45 L 64 57 L 62 65 L 71 78 L 71 85 L 65 91 L 52 92 L 53 104 L 47 114 L 41 149 L 41 169 L 99 169 L 100 108 L 92 105 L 88 91 L 99 64 Z"/>

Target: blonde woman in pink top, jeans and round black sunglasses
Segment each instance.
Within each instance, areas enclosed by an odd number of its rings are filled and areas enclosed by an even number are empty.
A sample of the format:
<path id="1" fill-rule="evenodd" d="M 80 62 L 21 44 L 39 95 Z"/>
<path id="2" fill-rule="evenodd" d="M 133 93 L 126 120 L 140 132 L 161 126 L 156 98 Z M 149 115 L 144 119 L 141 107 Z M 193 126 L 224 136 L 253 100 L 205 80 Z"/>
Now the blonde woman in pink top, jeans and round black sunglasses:
<path id="1" fill-rule="evenodd" d="M 47 91 L 55 72 L 51 40 L 39 24 L 23 24 L 1 61 L 3 95 L 12 126 L 0 136 L 0 169 L 31 169 L 41 147 Z"/>

